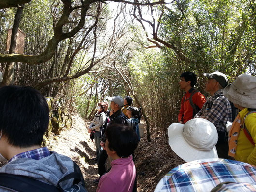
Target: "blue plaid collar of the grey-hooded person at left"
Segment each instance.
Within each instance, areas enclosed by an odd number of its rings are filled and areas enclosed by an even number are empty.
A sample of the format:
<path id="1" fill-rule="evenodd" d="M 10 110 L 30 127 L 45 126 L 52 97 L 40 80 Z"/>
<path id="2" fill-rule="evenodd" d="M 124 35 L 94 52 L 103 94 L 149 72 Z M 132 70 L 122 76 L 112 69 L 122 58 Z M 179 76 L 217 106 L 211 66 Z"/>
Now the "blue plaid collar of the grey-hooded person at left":
<path id="1" fill-rule="evenodd" d="M 35 150 L 30 150 L 30 151 L 26 151 L 26 152 L 22 152 L 19 153 L 17 155 L 14 155 L 9 161 L 14 161 L 15 159 L 18 158 L 30 158 L 30 159 L 34 159 L 34 160 L 39 160 L 39 159 L 43 159 L 44 157 L 48 157 L 50 156 L 51 152 L 48 150 L 47 147 L 42 147 L 42 148 L 38 148 Z"/>

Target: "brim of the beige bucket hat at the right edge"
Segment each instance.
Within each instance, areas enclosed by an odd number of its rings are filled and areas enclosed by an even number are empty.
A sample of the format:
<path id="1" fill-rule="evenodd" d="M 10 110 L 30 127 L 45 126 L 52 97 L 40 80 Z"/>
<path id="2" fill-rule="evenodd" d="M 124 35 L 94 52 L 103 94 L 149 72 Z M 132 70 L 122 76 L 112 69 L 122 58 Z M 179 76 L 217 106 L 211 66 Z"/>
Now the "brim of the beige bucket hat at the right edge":
<path id="1" fill-rule="evenodd" d="M 256 108 L 256 99 L 255 96 L 243 95 L 235 91 L 233 83 L 228 84 L 223 90 L 223 95 L 232 103 L 238 104 L 241 107 L 245 108 Z"/>

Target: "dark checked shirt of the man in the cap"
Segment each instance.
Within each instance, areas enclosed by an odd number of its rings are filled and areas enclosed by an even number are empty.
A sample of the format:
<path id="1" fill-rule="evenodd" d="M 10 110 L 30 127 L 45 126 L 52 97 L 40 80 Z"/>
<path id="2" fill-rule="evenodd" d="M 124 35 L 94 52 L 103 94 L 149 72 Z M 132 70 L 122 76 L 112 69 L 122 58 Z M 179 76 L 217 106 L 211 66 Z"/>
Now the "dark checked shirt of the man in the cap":
<path id="1" fill-rule="evenodd" d="M 232 122 L 232 108 L 228 99 L 223 96 L 223 89 L 219 89 L 207 99 L 202 109 L 195 115 L 195 117 L 201 116 L 212 122 L 218 131 L 226 131 L 225 124 L 227 121 Z"/>

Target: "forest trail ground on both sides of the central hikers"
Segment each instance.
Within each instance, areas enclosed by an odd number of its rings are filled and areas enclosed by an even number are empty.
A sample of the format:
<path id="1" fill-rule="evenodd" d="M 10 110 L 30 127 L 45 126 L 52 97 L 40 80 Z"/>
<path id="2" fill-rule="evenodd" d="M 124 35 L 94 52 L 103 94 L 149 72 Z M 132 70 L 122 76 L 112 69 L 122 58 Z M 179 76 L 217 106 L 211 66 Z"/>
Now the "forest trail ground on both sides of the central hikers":
<path id="1" fill-rule="evenodd" d="M 62 130 L 59 136 L 52 135 L 47 142 L 50 150 L 66 155 L 80 167 L 88 192 L 95 192 L 97 185 L 92 181 L 98 178 L 98 166 L 91 160 L 95 157 L 95 145 L 86 129 L 90 121 L 80 115 L 72 116 L 72 127 Z M 135 151 L 135 166 L 138 175 L 138 192 L 153 192 L 159 180 L 172 168 L 184 163 L 171 150 L 167 140 L 159 132 L 151 133 L 151 142 L 143 137 Z M 144 176 L 143 176 L 144 175 Z"/>

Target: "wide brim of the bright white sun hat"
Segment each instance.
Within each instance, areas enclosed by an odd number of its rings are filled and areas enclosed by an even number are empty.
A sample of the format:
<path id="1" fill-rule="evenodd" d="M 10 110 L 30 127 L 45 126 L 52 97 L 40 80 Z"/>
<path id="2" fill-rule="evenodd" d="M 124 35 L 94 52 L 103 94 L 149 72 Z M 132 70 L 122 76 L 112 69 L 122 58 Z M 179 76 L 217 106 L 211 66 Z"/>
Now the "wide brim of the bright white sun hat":
<path id="1" fill-rule="evenodd" d="M 183 124 L 173 123 L 168 127 L 168 138 L 171 149 L 186 162 L 218 158 L 216 147 L 211 151 L 200 151 L 187 143 L 183 137 Z"/>

